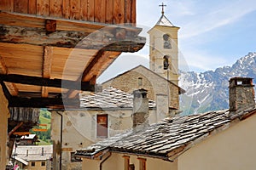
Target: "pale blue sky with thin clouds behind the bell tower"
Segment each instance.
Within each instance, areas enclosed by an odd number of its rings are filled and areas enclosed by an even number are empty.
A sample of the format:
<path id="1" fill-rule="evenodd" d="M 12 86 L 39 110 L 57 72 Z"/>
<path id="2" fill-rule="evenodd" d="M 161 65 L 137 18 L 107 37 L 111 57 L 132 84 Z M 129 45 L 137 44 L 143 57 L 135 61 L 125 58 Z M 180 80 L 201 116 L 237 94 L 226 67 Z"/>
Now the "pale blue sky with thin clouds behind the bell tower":
<path id="1" fill-rule="evenodd" d="M 180 27 L 180 68 L 203 72 L 232 65 L 236 59 L 255 52 L 255 0 L 137 0 L 137 26 L 141 36 L 155 25 L 161 15 L 159 5 L 165 3 L 166 17 Z M 121 54 L 100 82 L 133 68 L 148 65 L 148 42 L 136 54 Z"/>

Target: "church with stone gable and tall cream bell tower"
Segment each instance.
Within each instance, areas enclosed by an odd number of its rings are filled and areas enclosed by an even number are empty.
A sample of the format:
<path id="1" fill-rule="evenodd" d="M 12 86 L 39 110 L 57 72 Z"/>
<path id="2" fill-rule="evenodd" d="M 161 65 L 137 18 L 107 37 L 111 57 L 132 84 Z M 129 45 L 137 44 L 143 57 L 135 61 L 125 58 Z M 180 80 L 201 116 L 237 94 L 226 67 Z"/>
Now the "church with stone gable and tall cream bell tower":
<path id="1" fill-rule="evenodd" d="M 173 116 L 179 111 L 179 94 L 185 91 L 178 87 L 178 37 L 179 27 L 174 26 L 164 14 L 148 31 L 149 34 L 149 69 L 143 65 L 125 71 L 117 77 L 102 82 L 102 88 L 118 88 L 126 93 L 132 93 L 139 88 L 148 90 L 148 99 L 161 101 L 167 108 L 167 116 Z"/>

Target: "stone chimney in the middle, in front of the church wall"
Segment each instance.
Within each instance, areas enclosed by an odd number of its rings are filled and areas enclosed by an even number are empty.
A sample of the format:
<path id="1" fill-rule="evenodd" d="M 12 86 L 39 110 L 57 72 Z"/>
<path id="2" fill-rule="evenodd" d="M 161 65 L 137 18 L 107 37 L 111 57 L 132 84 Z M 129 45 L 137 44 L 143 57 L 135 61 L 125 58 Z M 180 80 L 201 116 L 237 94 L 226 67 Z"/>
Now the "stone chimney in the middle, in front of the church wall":
<path id="1" fill-rule="evenodd" d="M 133 127 L 140 125 L 148 125 L 149 109 L 148 109 L 148 91 L 141 88 L 133 92 Z"/>

